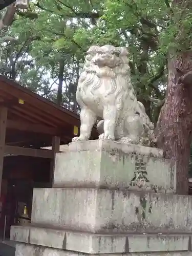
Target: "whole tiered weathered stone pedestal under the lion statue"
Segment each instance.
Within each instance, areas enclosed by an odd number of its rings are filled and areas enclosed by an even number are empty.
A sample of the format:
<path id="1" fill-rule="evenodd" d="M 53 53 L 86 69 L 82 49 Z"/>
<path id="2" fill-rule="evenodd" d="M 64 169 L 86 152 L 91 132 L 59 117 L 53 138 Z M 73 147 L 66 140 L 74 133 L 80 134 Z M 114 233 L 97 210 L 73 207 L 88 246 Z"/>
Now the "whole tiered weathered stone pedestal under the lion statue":
<path id="1" fill-rule="evenodd" d="M 35 188 L 31 225 L 12 226 L 16 256 L 192 255 L 192 198 L 157 148 L 112 141 L 57 153 L 53 188 Z"/>

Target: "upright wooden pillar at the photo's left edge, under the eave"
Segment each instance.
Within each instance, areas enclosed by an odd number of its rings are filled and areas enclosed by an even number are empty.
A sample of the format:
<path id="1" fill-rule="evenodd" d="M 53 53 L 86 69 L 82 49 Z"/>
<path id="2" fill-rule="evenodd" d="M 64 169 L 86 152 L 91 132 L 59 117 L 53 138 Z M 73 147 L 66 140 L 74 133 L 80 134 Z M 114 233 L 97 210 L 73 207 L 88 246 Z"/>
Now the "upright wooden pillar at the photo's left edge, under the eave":
<path id="1" fill-rule="evenodd" d="M 7 108 L 2 106 L 0 108 L 0 196 L 1 196 L 1 188 L 2 188 L 6 126 L 7 126 Z"/>

